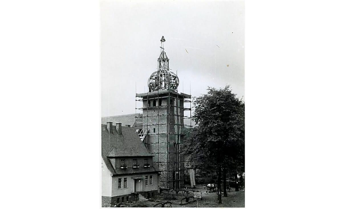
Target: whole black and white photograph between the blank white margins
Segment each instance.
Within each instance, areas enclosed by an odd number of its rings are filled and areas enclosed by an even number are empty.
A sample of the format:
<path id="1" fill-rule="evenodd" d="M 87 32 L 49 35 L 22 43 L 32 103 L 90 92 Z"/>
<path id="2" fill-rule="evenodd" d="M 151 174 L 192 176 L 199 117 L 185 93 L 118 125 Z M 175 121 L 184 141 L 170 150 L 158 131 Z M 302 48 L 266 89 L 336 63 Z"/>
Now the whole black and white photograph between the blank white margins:
<path id="1" fill-rule="evenodd" d="M 244 9 L 101 0 L 102 207 L 245 207 Z"/>

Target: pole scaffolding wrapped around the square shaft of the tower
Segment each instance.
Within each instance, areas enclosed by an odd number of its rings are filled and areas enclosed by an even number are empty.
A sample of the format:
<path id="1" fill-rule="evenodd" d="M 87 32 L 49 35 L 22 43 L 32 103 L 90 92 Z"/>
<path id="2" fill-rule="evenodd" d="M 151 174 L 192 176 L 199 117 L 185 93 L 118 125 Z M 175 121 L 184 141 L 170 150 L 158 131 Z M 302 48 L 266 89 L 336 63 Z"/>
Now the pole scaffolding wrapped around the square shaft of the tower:
<path id="1" fill-rule="evenodd" d="M 166 104 L 162 104 L 162 99 L 165 99 Z M 149 105 L 150 101 L 153 100 L 157 101 L 156 106 Z M 138 108 L 137 102 L 142 102 L 142 107 Z M 146 105 L 144 105 L 144 102 Z M 181 103 L 183 104 L 182 106 Z M 187 105 L 185 106 L 185 104 Z M 154 164 L 157 165 L 157 169 L 160 172 L 166 172 L 166 188 L 170 189 L 171 182 L 173 189 L 179 189 L 181 186 L 184 187 L 185 157 L 181 153 L 180 146 L 183 144 L 183 136 L 185 135 L 183 128 L 192 127 L 191 96 L 175 91 L 162 92 L 159 90 L 145 94 L 136 93 L 135 109 L 136 113 L 137 110 L 142 111 L 142 116 L 136 116 L 143 121 L 141 128 L 138 129 L 141 130 L 138 134 L 150 153 L 156 156 L 157 160 L 154 161 Z M 150 118 L 155 118 L 156 120 L 150 123 Z M 185 124 L 185 119 L 189 119 L 189 125 Z M 166 126 L 166 128 L 162 129 L 162 126 Z M 155 131 L 153 131 L 153 127 L 157 127 Z M 157 140 L 150 137 L 156 137 Z M 166 140 L 161 140 L 161 137 L 164 137 L 163 139 Z M 151 145 L 157 146 L 152 147 Z M 166 164 L 166 169 L 164 169 L 165 166 L 162 166 L 162 164 Z"/>

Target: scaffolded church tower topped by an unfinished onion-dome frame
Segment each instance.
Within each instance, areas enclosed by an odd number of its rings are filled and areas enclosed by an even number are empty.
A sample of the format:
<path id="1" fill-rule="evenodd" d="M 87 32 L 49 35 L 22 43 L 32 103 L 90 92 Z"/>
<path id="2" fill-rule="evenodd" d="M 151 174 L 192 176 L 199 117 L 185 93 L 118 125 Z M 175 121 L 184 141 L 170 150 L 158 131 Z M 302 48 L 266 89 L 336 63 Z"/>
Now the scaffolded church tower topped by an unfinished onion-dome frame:
<path id="1" fill-rule="evenodd" d="M 181 145 L 184 140 L 185 111 L 191 111 L 191 95 L 178 93 L 179 79 L 169 69 L 169 58 L 164 51 L 162 36 L 157 71 L 148 79 L 148 92 L 136 94 L 143 103 L 142 129 L 146 137 L 143 142 L 154 155 L 153 163 L 160 171 L 160 187 L 167 189 L 184 188 L 184 155 Z M 184 107 L 189 103 L 189 107 Z"/>

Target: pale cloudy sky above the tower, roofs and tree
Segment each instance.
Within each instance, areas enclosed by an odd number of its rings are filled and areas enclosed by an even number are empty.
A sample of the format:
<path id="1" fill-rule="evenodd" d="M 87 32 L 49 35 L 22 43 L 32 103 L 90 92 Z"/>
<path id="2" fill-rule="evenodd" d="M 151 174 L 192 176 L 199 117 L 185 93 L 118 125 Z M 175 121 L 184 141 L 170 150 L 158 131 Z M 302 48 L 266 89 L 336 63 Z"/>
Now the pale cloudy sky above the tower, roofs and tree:
<path id="1" fill-rule="evenodd" d="M 244 1 L 100 1 L 101 116 L 136 113 L 164 35 L 178 92 L 230 85 L 244 100 Z M 137 113 L 140 111 L 137 110 Z"/>

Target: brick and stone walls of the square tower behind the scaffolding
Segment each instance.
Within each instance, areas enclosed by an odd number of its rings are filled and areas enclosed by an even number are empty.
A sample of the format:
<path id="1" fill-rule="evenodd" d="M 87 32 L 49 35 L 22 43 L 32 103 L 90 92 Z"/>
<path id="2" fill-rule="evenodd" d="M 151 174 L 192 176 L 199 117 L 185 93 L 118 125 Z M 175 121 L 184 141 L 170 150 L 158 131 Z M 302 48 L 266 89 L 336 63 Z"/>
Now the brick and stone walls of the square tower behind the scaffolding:
<path id="1" fill-rule="evenodd" d="M 171 96 L 176 97 L 175 94 L 170 94 Z M 159 94 L 160 97 L 168 96 L 168 94 Z M 160 98 L 162 101 L 162 106 L 159 106 L 157 95 L 156 96 L 150 96 L 149 100 L 151 102 L 151 107 L 147 107 L 147 99 L 144 98 L 144 110 L 143 110 L 143 128 L 145 129 L 145 125 L 148 126 L 150 130 L 150 135 L 148 135 L 146 146 L 149 150 L 149 152 L 152 155 L 155 155 L 153 157 L 153 165 L 156 169 L 159 169 L 161 171 L 160 175 L 160 187 L 162 188 L 173 188 L 173 179 L 175 179 L 175 170 L 180 168 L 180 188 L 183 188 L 183 177 L 184 177 L 184 163 L 177 163 L 176 168 L 176 155 L 178 161 L 183 161 L 183 155 L 182 154 L 176 154 L 176 144 L 174 143 L 181 143 L 183 142 L 183 136 L 180 136 L 178 138 L 179 133 L 183 133 L 183 126 L 178 125 L 172 125 L 172 124 L 184 124 L 183 120 L 183 109 L 181 109 L 178 113 L 176 107 L 167 106 L 170 104 L 177 106 L 176 98 L 172 97 L 165 97 Z M 153 100 L 156 100 L 156 105 L 153 106 Z M 183 108 L 183 99 L 178 100 L 178 105 Z M 175 111 L 174 111 L 175 109 Z M 158 116 L 158 114 L 160 116 Z M 175 114 L 179 114 L 181 117 L 175 116 Z M 145 116 L 150 117 L 145 117 Z M 164 116 L 162 116 L 164 115 Z M 171 123 L 170 125 L 167 125 L 165 123 Z M 164 124 L 164 125 L 152 125 L 152 124 Z M 154 133 L 155 128 L 155 133 Z M 159 128 L 159 129 L 158 129 Z M 181 131 L 180 131 L 181 129 Z M 159 135 L 158 135 L 159 133 Z M 163 134 L 162 133 L 170 133 L 170 134 Z M 158 143 L 159 144 L 151 144 L 151 143 Z M 169 143 L 168 143 L 169 142 Z M 181 145 L 180 146 L 180 152 L 181 152 Z M 159 152 L 159 154 L 158 154 Z"/>

